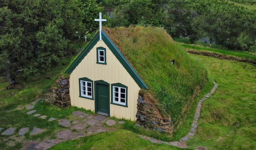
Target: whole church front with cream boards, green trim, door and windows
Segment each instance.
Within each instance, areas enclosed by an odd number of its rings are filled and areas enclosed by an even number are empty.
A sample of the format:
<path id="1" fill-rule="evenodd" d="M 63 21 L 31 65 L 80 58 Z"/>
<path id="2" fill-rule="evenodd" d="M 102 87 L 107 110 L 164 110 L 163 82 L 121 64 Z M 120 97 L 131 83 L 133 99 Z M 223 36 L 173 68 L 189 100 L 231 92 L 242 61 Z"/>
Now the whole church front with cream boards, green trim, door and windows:
<path id="1" fill-rule="evenodd" d="M 139 90 L 148 87 L 103 30 L 101 38 L 98 32 L 67 69 L 71 105 L 136 120 Z"/>

